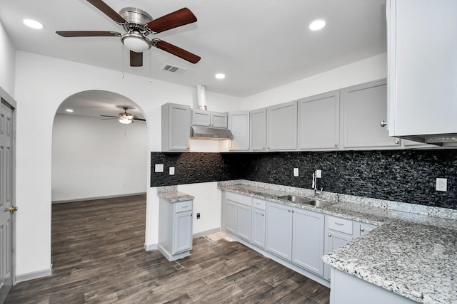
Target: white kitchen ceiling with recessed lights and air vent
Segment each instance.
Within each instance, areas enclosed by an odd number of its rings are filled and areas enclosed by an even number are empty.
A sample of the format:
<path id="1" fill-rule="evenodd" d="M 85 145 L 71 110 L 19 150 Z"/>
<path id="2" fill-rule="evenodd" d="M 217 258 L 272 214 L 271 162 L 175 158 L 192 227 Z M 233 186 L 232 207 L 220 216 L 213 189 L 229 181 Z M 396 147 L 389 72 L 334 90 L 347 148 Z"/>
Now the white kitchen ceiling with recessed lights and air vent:
<path id="1" fill-rule="evenodd" d="M 120 38 L 63 38 L 55 31 L 119 31 L 108 16 L 86 0 L 0 0 L 0 20 L 21 51 L 124 70 L 181 85 L 246 97 L 310 75 L 386 52 L 385 0 L 105 0 L 115 11 L 127 6 L 156 19 L 188 7 L 198 21 L 159 33 L 156 38 L 201 56 L 195 65 L 153 48 L 144 67 L 129 67 Z M 25 18 L 44 23 L 27 28 Z M 326 19 L 318 32 L 313 19 Z M 149 36 L 151 38 L 151 36 Z M 124 48 L 124 51 L 123 51 Z M 124 65 L 123 63 L 124 53 Z M 151 62 L 150 62 L 151 58 Z M 164 64 L 185 73 L 160 70 Z M 151 67 L 151 70 L 150 70 Z M 226 79 L 216 80 L 215 73 Z"/>

